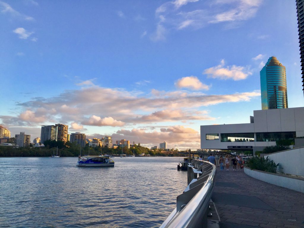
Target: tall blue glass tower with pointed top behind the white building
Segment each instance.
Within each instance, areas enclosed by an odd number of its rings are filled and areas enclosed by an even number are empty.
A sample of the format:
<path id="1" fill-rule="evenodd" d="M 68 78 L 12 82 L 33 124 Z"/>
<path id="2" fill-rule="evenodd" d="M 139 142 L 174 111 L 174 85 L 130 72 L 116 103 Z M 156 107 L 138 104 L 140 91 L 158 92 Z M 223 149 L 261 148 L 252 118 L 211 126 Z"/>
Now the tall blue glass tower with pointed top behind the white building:
<path id="1" fill-rule="evenodd" d="M 285 67 L 276 57 L 268 59 L 260 71 L 262 109 L 286 109 L 287 85 Z"/>

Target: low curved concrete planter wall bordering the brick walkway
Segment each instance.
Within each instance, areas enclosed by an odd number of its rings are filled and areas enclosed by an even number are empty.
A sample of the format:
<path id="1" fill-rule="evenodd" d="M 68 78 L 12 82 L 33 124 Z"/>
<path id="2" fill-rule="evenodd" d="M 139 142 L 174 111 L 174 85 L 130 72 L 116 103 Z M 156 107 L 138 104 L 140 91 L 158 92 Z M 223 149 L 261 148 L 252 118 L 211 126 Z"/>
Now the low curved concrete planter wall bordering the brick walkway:
<path id="1" fill-rule="evenodd" d="M 291 176 L 281 173 L 269 173 L 260 170 L 250 170 L 250 168 L 244 167 L 244 172 L 255 179 L 265 181 L 269 184 L 278 185 L 284 188 L 289 188 L 298 192 L 304 193 L 304 178 Z"/>

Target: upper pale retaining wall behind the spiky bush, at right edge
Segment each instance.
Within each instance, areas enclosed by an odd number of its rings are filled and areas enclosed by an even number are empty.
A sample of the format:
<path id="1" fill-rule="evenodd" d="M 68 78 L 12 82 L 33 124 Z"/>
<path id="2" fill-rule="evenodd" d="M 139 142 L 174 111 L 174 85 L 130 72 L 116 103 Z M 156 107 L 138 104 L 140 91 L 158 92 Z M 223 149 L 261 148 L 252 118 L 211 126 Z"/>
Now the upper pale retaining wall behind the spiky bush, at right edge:
<path id="1" fill-rule="evenodd" d="M 304 177 L 304 147 L 264 155 L 267 156 L 275 164 L 280 163 L 280 172 Z"/>

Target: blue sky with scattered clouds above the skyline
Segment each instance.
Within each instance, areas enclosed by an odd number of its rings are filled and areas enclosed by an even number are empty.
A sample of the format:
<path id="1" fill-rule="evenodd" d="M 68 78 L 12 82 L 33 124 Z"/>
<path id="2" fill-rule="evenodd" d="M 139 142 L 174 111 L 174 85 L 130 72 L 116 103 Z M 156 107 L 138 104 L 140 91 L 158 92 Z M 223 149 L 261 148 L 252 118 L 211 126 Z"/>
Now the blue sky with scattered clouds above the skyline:
<path id="1" fill-rule="evenodd" d="M 275 3 L 275 4 L 274 4 Z M 0 0 L 0 126 L 40 137 L 200 148 L 200 126 L 250 123 L 260 70 L 304 106 L 295 1 Z"/>

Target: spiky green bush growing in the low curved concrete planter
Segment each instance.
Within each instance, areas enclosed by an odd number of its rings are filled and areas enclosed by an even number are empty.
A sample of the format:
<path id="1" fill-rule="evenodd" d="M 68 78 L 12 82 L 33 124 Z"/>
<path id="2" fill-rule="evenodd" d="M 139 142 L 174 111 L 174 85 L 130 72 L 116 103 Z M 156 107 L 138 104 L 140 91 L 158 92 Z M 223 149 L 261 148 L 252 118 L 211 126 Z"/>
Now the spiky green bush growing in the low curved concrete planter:
<path id="1" fill-rule="evenodd" d="M 268 156 L 265 157 L 252 157 L 247 161 L 247 167 L 250 169 L 257 169 L 261 171 L 276 173 L 280 163 L 275 164 L 274 161 L 269 161 Z"/>

